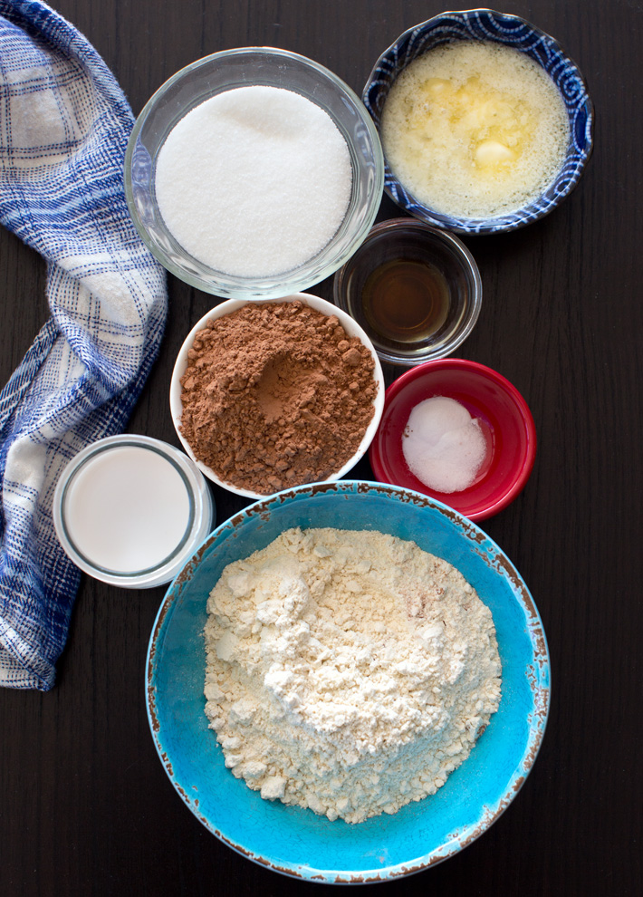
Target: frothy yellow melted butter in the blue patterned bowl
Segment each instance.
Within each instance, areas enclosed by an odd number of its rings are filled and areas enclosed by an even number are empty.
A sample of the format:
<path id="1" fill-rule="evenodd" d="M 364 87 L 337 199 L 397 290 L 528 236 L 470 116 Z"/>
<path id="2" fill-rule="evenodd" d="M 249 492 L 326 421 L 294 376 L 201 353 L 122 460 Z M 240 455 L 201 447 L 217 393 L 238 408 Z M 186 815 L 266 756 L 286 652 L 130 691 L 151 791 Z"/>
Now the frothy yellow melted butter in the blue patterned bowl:
<path id="1" fill-rule="evenodd" d="M 523 53 L 456 42 L 410 63 L 381 121 L 398 179 L 449 214 L 490 217 L 522 206 L 552 181 L 569 122 L 548 75 Z"/>

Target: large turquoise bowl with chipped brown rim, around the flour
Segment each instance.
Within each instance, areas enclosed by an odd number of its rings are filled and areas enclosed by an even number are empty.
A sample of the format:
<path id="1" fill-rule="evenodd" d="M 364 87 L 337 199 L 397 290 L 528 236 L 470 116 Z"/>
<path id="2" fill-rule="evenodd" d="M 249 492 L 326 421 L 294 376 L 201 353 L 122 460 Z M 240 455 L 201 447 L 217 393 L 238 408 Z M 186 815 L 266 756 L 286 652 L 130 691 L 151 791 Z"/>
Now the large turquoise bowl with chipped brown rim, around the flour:
<path id="1" fill-rule="evenodd" d="M 491 608 L 503 663 L 500 708 L 470 757 L 422 801 L 359 825 L 262 800 L 224 766 L 204 713 L 207 595 L 221 571 L 291 526 L 378 529 L 446 558 Z M 493 824 L 523 785 L 549 709 L 542 622 L 513 564 L 475 524 L 432 498 L 341 481 L 249 506 L 217 527 L 170 586 L 147 664 L 149 723 L 183 801 L 223 842 L 276 872 L 325 883 L 385 881 L 439 863 Z"/>

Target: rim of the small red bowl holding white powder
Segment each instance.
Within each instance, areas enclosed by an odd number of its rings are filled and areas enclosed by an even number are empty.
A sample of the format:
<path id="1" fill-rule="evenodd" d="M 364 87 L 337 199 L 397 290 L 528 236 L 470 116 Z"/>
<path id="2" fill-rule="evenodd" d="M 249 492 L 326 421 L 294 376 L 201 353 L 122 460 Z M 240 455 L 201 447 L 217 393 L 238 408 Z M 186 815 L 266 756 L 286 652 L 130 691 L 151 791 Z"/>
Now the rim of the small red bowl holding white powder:
<path id="1" fill-rule="evenodd" d="M 480 362 L 471 362 L 465 358 L 440 358 L 435 362 L 425 362 L 424 365 L 420 364 L 417 365 L 417 367 L 411 368 L 410 371 L 405 371 L 397 380 L 390 384 L 384 396 L 382 420 L 384 420 L 384 415 L 386 414 L 389 404 L 406 389 L 409 383 L 417 380 L 423 373 L 428 371 L 442 370 L 469 371 L 477 377 L 484 378 L 487 381 L 494 381 L 494 383 L 504 391 L 505 395 L 512 400 L 513 407 L 518 411 L 526 431 L 526 449 L 521 458 L 520 468 L 515 472 L 512 485 L 505 489 L 504 493 L 495 498 L 494 501 L 476 509 L 470 514 L 465 514 L 463 511 L 457 512 L 474 522 L 485 520 L 488 517 L 499 514 L 505 507 L 511 505 L 513 500 L 523 491 L 527 480 L 532 474 L 538 441 L 533 414 L 522 393 L 518 391 L 513 383 L 507 380 L 507 378 L 499 371 L 494 371 L 494 368 L 487 367 L 487 365 L 481 364 Z M 382 452 L 379 451 L 379 443 L 376 439 L 373 439 L 369 446 L 369 462 L 375 477 L 377 477 L 380 482 L 388 482 L 386 471 L 382 463 Z M 422 494 L 424 495 L 425 493 Z M 427 497 L 434 498 L 436 501 L 441 501 L 446 504 L 446 506 L 449 506 L 447 497 L 444 493 L 437 492 L 435 489 L 429 489 L 429 487 L 427 487 L 426 495 Z"/>

